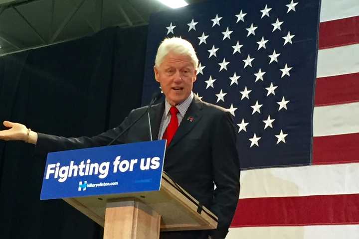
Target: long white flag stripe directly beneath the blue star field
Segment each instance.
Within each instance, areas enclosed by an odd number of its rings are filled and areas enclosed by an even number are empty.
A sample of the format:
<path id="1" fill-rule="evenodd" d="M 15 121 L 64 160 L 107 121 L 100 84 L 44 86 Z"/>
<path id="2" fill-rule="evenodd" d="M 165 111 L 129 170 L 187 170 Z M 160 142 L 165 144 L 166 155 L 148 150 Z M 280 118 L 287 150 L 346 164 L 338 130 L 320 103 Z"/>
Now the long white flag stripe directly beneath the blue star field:
<path id="1" fill-rule="evenodd" d="M 239 198 L 359 193 L 359 163 L 241 172 Z"/>

